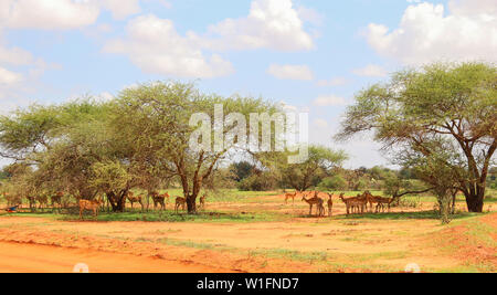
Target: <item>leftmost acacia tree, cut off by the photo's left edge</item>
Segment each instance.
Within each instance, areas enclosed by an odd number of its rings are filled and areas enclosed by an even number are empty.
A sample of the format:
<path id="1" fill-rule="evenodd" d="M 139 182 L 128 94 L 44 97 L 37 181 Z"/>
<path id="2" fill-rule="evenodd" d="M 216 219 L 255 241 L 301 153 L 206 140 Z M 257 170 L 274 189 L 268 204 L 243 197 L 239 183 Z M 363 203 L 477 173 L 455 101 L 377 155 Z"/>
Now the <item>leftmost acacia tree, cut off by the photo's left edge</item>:
<path id="1" fill-rule="evenodd" d="M 123 200 L 136 185 L 134 155 L 129 143 L 115 140 L 118 130 L 109 124 L 109 106 L 84 99 L 33 105 L 2 116 L 2 156 L 35 168 L 30 180 L 35 188 L 67 190 L 82 199 L 105 192 L 114 211 L 123 211 Z M 104 169 L 109 162 L 118 162 L 126 170 L 125 186 L 113 171 L 117 166 Z"/>

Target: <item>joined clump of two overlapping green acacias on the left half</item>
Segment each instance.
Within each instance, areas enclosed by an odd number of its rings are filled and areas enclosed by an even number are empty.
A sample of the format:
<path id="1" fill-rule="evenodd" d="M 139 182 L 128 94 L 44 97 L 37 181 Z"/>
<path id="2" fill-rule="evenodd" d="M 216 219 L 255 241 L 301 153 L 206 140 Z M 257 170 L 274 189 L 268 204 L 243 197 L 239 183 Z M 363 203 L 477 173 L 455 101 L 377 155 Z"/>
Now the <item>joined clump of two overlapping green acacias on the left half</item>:
<path id="1" fill-rule="evenodd" d="M 192 115 L 203 113 L 212 123 L 218 104 L 246 116 L 276 109 L 263 99 L 202 94 L 190 83 L 141 84 L 106 103 L 84 98 L 1 116 L 0 156 L 33 168 L 15 182 L 22 196 L 64 190 L 92 199 L 106 193 L 114 210 L 121 211 L 130 189 L 150 193 L 176 181 L 194 212 L 203 187 L 225 185 L 218 180 L 228 178 L 214 175 L 223 171 L 219 164 L 235 147 L 190 148 L 197 129 L 190 126 Z"/>

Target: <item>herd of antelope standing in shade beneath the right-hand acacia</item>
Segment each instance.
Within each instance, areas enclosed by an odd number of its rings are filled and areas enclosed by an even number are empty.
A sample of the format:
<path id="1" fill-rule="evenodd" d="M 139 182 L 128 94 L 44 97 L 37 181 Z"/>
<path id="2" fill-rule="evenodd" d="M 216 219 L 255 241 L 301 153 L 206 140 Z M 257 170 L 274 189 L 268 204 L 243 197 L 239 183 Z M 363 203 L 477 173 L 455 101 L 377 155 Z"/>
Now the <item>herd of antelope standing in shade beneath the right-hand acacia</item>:
<path id="1" fill-rule="evenodd" d="M 347 214 L 353 214 L 353 213 L 360 213 L 363 214 L 367 209 L 368 204 L 370 204 L 370 212 L 373 210 L 373 206 L 376 204 L 376 213 L 379 212 L 385 212 L 388 209 L 388 212 L 390 212 L 390 207 L 393 202 L 393 198 L 383 198 L 378 196 L 372 196 L 371 192 L 366 191 L 362 194 L 358 194 L 353 198 L 345 198 L 345 193 L 341 193 L 340 196 L 335 196 L 332 193 L 327 192 L 320 192 L 320 191 L 309 191 L 309 192 L 300 192 L 296 191 L 294 193 L 286 193 L 285 194 L 285 203 L 288 203 L 288 200 L 292 199 L 293 202 L 295 202 L 296 197 L 303 197 L 302 201 L 309 204 L 309 215 L 313 214 L 313 207 L 316 206 L 316 214 L 318 217 L 326 215 L 326 209 L 325 209 L 325 200 L 327 199 L 326 206 L 328 209 L 328 217 L 332 215 L 332 209 L 334 209 L 334 197 L 338 197 L 347 208 Z M 311 198 L 310 198 L 311 197 Z"/>

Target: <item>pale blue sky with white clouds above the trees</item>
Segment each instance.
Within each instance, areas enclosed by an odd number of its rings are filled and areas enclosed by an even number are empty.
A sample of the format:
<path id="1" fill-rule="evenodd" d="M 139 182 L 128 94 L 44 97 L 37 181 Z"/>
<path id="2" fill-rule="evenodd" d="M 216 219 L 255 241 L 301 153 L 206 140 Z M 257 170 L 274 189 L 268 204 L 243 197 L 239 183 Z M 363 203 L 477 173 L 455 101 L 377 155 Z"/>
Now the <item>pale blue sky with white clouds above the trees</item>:
<path id="1" fill-rule="evenodd" d="M 390 166 L 370 135 L 332 140 L 355 94 L 496 52 L 496 0 L 1 0 L 0 114 L 195 82 L 308 112 L 310 141 L 346 149 L 347 168 Z"/>

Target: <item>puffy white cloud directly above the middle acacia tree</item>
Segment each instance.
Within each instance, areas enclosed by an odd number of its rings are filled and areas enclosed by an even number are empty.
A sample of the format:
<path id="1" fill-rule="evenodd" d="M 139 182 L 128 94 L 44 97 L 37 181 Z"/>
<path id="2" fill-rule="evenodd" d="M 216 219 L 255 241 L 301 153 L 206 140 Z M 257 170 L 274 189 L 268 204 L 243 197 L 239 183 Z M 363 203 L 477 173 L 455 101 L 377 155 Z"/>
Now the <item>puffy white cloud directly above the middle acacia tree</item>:
<path id="1" fill-rule="evenodd" d="M 141 15 L 128 23 L 126 32 L 127 39 L 108 42 L 104 51 L 127 55 L 147 73 L 210 78 L 234 71 L 216 54 L 204 56 L 194 42 L 178 34 L 170 20 Z"/>

